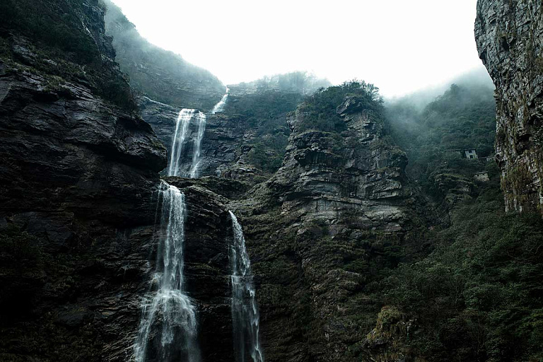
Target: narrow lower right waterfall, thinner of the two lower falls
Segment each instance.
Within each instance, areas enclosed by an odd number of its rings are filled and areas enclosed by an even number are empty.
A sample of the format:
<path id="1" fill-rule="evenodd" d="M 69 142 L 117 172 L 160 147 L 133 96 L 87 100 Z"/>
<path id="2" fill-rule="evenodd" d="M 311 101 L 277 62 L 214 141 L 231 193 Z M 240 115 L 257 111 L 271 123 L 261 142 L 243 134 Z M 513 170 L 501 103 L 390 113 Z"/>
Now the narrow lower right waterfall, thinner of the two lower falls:
<path id="1" fill-rule="evenodd" d="M 232 322 L 235 362 L 245 362 L 245 348 L 249 349 L 252 362 L 264 362 L 260 349 L 258 305 L 252 281 L 251 262 L 245 249 L 243 230 L 232 211 L 233 245 L 230 247 L 232 275 Z"/>

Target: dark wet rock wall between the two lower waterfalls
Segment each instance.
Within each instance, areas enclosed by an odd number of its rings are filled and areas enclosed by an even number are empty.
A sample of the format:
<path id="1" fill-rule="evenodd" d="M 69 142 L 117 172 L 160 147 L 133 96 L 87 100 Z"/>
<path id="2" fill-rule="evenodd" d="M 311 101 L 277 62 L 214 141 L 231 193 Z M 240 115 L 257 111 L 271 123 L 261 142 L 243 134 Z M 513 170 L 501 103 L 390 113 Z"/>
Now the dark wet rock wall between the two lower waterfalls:
<path id="1" fill-rule="evenodd" d="M 225 199 L 199 185 L 199 180 L 193 182 L 179 177 L 168 177 L 166 180 L 185 194 L 185 290 L 197 310 L 198 344 L 202 361 L 233 361 L 231 270 L 228 259 L 233 230 L 228 209 L 223 204 Z M 164 226 L 157 225 L 153 243 L 141 248 L 149 257 L 146 286 L 149 286 L 153 279 L 158 240 L 164 238 L 165 232 Z M 145 290 L 141 291 L 141 295 L 144 292 Z M 130 330 L 135 329 L 132 327 Z M 158 345 L 160 346 L 160 342 Z M 149 355 L 152 355 L 151 351 Z M 119 358 L 118 361 L 123 360 Z"/>

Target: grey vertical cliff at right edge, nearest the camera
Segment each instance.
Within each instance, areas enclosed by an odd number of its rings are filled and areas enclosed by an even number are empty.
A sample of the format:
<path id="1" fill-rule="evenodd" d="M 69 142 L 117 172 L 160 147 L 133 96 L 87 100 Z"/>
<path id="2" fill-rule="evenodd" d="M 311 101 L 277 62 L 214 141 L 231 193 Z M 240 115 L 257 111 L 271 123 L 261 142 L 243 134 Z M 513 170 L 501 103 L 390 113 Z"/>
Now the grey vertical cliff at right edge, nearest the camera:
<path id="1" fill-rule="evenodd" d="M 543 205 L 543 6 L 479 0 L 479 57 L 496 84 L 496 160 L 508 211 Z"/>

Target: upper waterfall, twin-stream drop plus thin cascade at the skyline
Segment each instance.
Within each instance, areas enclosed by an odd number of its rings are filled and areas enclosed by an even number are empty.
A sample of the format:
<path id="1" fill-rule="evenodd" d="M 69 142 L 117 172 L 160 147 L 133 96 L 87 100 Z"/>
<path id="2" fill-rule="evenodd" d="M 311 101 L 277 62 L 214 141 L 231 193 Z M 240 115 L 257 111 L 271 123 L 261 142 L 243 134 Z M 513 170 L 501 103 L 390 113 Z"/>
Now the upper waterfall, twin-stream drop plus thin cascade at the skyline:
<path id="1" fill-rule="evenodd" d="M 211 114 L 216 112 L 222 112 L 224 105 L 226 105 L 226 99 L 228 98 L 228 92 L 230 90 L 226 88 L 226 94 L 223 98 L 213 107 Z M 190 165 L 188 173 L 185 175 L 179 174 L 179 163 L 182 155 L 182 150 L 187 141 L 189 133 L 189 124 L 192 118 L 197 122 L 197 134 L 194 138 L 194 151 L 192 153 L 192 163 Z M 204 139 L 204 133 L 206 132 L 206 115 L 196 110 L 184 108 L 179 112 L 177 117 L 177 123 L 175 124 L 175 132 L 173 134 L 172 151 L 170 155 L 170 167 L 168 168 L 168 176 L 186 176 L 190 178 L 198 177 L 198 170 L 200 163 L 202 163 L 202 140 Z"/>

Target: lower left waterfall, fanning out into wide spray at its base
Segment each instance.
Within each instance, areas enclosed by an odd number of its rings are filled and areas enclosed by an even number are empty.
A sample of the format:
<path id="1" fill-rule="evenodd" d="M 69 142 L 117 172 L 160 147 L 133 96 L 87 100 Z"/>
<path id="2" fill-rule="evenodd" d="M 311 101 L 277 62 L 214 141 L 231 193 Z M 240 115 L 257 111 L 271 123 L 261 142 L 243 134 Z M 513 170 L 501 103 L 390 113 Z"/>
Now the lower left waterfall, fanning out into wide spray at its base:
<path id="1" fill-rule="evenodd" d="M 165 235 L 160 235 L 153 295 L 142 303 L 134 361 L 199 362 L 196 311 L 183 289 L 185 194 L 162 182 L 160 199 Z"/>

